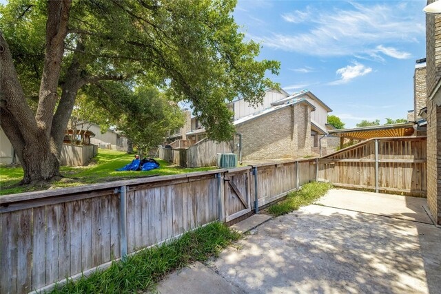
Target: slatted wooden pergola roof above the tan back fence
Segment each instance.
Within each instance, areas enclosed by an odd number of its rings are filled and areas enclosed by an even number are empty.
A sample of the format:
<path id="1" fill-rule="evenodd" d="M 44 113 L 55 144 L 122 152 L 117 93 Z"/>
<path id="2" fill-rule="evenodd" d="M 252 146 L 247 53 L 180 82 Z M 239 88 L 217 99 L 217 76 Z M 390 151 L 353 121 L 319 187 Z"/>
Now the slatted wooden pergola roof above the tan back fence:
<path id="1" fill-rule="evenodd" d="M 415 123 L 395 123 L 391 125 L 373 125 L 354 127 L 352 129 L 331 129 L 329 135 L 340 137 L 340 148 L 345 138 L 368 140 L 371 138 L 407 137 L 416 134 Z"/>

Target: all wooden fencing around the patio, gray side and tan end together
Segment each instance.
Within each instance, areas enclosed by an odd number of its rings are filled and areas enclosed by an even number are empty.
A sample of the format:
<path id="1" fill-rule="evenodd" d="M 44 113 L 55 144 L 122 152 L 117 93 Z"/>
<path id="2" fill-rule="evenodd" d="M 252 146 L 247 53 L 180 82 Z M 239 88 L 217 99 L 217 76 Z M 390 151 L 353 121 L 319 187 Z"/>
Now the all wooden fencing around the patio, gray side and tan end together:
<path id="1" fill-rule="evenodd" d="M 0 291 L 32 291 L 121 258 L 125 246 L 132 253 L 214 220 L 234 220 L 317 177 L 424 194 L 425 154 L 425 138 L 382 138 L 377 156 L 371 140 L 320 158 L 318 175 L 311 158 L 2 196 Z M 121 203 L 114 189 L 123 186 L 129 190 Z"/>

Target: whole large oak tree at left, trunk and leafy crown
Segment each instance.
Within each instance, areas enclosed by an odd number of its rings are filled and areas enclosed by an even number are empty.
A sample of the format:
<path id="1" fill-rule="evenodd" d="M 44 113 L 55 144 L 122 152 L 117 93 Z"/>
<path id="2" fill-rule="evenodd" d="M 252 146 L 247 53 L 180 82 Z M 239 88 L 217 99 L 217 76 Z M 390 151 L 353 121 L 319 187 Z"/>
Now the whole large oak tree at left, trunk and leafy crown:
<path id="1" fill-rule="evenodd" d="M 225 101 L 259 103 L 279 63 L 256 61 L 234 0 L 11 0 L 0 9 L 0 125 L 23 183 L 59 176 L 79 90 L 118 105 L 117 83 L 161 87 L 189 101 L 215 140 L 234 132 Z M 120 84 L 121 85 L 121 84 Z M 115 92 L 116 90 L 116 92 Z"/>

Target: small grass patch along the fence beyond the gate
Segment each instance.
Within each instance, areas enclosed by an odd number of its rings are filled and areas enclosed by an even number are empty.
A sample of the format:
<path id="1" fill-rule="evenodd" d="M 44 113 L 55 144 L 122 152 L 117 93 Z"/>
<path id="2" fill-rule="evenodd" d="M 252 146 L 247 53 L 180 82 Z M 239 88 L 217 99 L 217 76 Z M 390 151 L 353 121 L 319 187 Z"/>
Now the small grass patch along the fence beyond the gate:
<path id="1" fill-rule="evenodd" d="M 268 212 L 273 216 L 280 216 L 297 210 L 302 206 L 314 203 L 318 198 L 325 195 L 331 187 L 332 185 L 327 182 L 309 182 L 303 185 L 302 189 L 289 193 L 284 200 L 271 205 Z"/>

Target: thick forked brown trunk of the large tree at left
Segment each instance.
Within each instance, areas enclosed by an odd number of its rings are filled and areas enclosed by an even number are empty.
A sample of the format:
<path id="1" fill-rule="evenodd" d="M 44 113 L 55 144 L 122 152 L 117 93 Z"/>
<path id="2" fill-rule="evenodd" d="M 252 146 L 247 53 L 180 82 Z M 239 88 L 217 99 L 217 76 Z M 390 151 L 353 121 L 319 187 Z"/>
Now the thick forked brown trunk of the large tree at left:
<path id="1" fill-rule="evenodd" d="M 26 101 L 8 43 L 0 30 L 0 126 L 23 166 L 22 184 L 36 185 L 60 176 L 57 149 L 50 133 L 70 4 L 70 0 L 48 1 L 45 62 L 35 116 Z"/>

